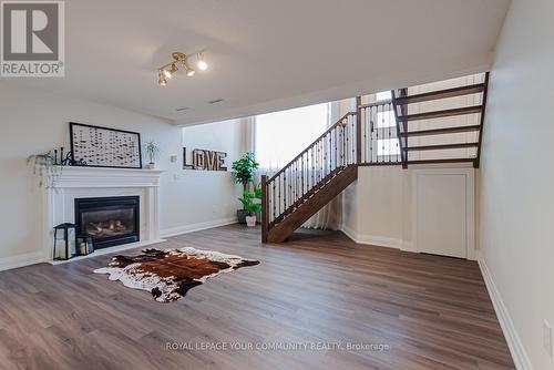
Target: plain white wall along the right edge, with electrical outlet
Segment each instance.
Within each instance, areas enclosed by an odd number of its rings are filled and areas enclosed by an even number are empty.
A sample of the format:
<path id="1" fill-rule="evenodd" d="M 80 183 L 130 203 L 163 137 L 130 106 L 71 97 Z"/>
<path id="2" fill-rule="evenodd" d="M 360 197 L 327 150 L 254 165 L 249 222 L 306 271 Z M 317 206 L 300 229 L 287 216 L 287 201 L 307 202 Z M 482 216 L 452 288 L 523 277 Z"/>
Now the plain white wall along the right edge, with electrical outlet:
<path id="1" fill-rule="evenodd" d="M 491 72 L 480 175 L 483 259 L 535 369 L 554 369 L 542 331 L 544 319 L 554 325 L 553 14 L 552 0 L 512 2 Z"/>

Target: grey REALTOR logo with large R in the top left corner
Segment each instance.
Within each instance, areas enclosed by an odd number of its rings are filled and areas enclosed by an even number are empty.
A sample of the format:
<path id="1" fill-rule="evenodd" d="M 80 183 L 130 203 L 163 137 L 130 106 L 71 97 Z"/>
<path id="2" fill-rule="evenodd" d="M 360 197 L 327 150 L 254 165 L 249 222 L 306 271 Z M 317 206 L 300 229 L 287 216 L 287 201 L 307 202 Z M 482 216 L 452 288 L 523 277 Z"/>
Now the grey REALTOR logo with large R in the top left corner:
<path id="1" fill-rule="evenodd" d="M 2 0 L 0 7 L 0 75 L 63 76 L 63 1 Z"/>

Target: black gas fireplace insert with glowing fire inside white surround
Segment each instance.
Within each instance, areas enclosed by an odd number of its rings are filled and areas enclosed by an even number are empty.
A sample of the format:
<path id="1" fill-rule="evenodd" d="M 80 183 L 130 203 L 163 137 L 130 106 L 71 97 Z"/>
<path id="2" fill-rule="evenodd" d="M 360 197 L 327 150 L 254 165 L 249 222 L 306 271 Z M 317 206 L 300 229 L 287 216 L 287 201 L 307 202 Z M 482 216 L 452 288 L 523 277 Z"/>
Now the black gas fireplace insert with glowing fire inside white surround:
<path id="1" fill-rule="evenodd" d="M 89 234 L 94 248 L 140 240 L 138 196 L 75 198 L 76 233 Z"/>

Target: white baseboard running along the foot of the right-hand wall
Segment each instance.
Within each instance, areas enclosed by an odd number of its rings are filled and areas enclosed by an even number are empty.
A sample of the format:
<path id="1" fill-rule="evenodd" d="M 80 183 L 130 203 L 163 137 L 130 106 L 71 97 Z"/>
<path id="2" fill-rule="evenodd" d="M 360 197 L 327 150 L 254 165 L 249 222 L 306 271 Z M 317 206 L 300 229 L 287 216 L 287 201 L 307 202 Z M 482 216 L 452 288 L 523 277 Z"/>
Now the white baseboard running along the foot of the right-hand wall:
<path id="1" fill-rule="evenodd" d="M 515 330 L 515 326 L 512 321 L 512 318 L 510 317 L 510 312 L 507 311 L 507 308 L 502 300 L 499 288 L 494 284 L 491 270 L 486 266 L 486 261 L 481 254 L 478 254 L 478 263 L 479 267 L 481 268 L 481 274 L 483 275 L 486 289 L 489 290 L 489 296 L 491 297 L 492 304 L 494 306 L 494 311 L 496 312 L 496 317 L 499 318 L 502 332 L 506 338 L 507 347 L 510 348 L 510 353 L 512 354 L 512 358 L 514 360 L 515 368 L 519 370 L 533 370 L 531 360 L 529 359 L 527 353 L 525 352 L 525 348 L 521 342 L 520 336 Z"/>

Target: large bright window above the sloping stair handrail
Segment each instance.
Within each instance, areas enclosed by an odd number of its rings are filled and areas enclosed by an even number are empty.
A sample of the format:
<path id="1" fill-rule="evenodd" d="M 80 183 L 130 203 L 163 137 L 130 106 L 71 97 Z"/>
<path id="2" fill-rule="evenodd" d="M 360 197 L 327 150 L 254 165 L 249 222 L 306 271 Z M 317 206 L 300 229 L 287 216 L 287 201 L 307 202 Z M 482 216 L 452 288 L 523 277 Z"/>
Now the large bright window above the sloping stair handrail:
<path id="1" fill-rule="evenodd" d="M 256 160 L 261 168 L 280 168 L 329 126 L 330 104 L 256 116 Z"/>

